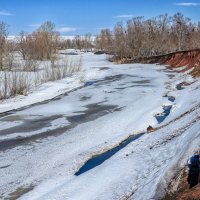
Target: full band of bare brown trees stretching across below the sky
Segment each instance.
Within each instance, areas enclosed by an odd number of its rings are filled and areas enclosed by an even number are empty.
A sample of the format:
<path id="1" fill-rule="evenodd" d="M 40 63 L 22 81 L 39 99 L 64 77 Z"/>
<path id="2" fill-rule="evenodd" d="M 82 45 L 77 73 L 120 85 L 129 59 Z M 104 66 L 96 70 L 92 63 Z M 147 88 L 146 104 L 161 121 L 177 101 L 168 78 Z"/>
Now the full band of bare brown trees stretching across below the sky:
<path id="1" fill-rule="evenodd" d="M 102 29 L 95 41 L 90 33 L 62 39 L 50 21 L 32 33 L 21 31 L 14 40 L 8 40 L 8 33 L 8 25 L 0 22 L 0 70 L 12 68 L 15 52 L 31 65 L 32 60 L 48 59 L 54 63 L 55 53 L 67 48 L 106 51 L 119 59 L 200 48 L 200 22 L 194 23 L 181 13 L 119 22 L 113 30 Z"/>

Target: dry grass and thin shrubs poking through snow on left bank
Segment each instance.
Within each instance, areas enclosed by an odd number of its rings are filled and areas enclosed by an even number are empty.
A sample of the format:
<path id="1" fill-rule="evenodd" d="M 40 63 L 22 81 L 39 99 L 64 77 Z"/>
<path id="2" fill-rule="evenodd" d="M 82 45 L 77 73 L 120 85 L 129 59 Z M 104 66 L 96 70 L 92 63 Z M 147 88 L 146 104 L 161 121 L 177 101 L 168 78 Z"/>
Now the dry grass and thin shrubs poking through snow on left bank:
<path id="1" fill-rule="evenodd" d="M 22 65 L 22 70 L 0 72 L 0 100 L 17 95 L 27 95 L 30 89 L 46 83 L 71 76 L 81 70 L 82 59 L 73 62 L 67 58 L 52 63 L 46 62 L 43 69 L 38 70 L 39 63 L 27 60 Z"/>

